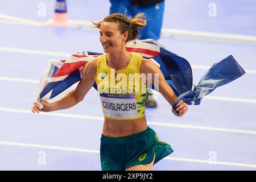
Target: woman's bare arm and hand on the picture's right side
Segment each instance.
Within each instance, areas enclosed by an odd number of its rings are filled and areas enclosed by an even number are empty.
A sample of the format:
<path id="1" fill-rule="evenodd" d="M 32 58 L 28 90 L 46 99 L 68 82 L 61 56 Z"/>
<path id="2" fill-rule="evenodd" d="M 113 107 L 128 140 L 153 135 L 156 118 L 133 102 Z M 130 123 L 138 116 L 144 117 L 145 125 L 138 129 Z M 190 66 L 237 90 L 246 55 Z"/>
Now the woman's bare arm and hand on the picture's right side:
<path id="1" fill-rule="evenodd" d="M 166 98 L 166 100 L 172 106 L 177 96 L 174 93 L 174 90 L 172 90 L 171 86 L 168 85 L 168 83 L 166 82 L 166 79 L 164 78 L 163 73 L 160 71 L 160 68 L 152 60 L 143 59 L 141 62 L 140 71 L 141 73 L 146 74 L 147 81 L 151 80 L 153 85 L 157 85 L 155 81 L 158 81 L 159 92 L 164 96 L 164 98 Z M 150 76 L 148 75 L 148 73 L 152 73 L 151 79 L 148 79 L 148 76 Z M 156 76 L 156 80 L 155 80 L 155 76 Z M 149 84 L 150 83 L 147 82 L 147 85 Z M 172 113 L 174 113 L 176 116 L 181 117 L 188 111 L 188 106 L 183 101 L 180 101 L 176 105 L 176 107 L 177 107 L 176 111 L 179 111 L 179 113 L 177 113 L 174 109 L 172 109 Z"/>

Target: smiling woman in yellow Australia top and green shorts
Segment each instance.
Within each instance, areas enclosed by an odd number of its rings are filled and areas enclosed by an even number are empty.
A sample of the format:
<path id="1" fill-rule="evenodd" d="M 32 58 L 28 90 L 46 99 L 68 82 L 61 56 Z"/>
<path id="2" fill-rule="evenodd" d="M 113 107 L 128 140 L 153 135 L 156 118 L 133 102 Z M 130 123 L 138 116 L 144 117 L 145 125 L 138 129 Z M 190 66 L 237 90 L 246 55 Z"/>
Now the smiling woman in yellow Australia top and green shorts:
<path id="1" fill-rule="evenodd" d="M 112 14 L 102 22 L 93 23 L 100 29 L 105 53 L 88 61 L 75 90 L 56 102 L 40 102 L 44 106 L 41 110 L 36 103 L 32 106 L 34 113 L 67 109 L 82 101 L 96 82 L 105 117 L 100 146 L 102 170 L 151 170 L 155 163 L 173 152 L 171 146 L 160 141 L 155 131 L 147 126 L 144 114 L 147 92 L 143 88 L 158 84 L 159 92 L 171 106 L 176 94 L 153 61 L 126 50 L 126 43 L 135 41 L 139 27 L 146 25 L 143 18 L 143 14 L 131 19 Z M 146 75 L 145 82 L 141 78 L 134 79 L 141 73 Z M 135 88 L 130 89 L 130 83 Z M 187 112 L 183 101 L 176 106 L 179 113 L 172 109 L 175 115 L 180 117 Z"/>

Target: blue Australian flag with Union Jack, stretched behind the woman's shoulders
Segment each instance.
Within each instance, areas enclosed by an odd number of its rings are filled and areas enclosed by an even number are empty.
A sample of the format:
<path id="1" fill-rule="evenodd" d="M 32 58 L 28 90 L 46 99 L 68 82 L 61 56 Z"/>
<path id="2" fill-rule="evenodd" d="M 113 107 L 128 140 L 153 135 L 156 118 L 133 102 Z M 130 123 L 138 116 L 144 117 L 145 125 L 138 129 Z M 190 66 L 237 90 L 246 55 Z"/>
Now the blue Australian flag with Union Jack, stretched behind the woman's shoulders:
<path id="1" fill-rule="evenodd" d="M 136 44 L 129 42 L 126 44 L 126 49 L 146 59 L 151 59 L 158 65 L 167 83 L 177 95 L 175 104 L 172 106 L 174 109 L 180 100 L 188 105 L 199 105 L 202 98 L 215 88 L 228 84 L 245 73 L 230 55 L 220 63 L 214 64 L 196 86 L 193 85 L 192 70 L 188 61 L 168 51 L 155 40 L 140 40 Z M 71 55 L 67 60 L 49 60 L 48 67 L 40 78 L 35 100 L 38 102 L 53 98 L 80 81 L 86 63 L 101 54 L 84 51 Z M 93 87 L 97 89 L 95 83 Z"/>

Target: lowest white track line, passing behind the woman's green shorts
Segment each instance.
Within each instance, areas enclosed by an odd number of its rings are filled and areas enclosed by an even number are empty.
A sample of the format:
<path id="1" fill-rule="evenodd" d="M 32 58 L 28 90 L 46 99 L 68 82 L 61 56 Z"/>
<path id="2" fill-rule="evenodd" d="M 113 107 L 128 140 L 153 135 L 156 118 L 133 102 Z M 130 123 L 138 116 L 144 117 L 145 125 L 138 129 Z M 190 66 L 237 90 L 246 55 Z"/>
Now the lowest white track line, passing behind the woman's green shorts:
<path id="1" fill-rule="evenodd" d="M 40 145 L 40 144 L 5 142 L 5 141 L 0 141 L 0 144 L 6 145 L 6 146 L 32 147 L 32 148 L 43 148 L 43 149 L 52 149 L 52 150 L 61 150 L 61 151 L 100 154 L 99 150 L 89 150 L 89 149 L 85 149 L 85 148 L 46 146 L 46 145 Z M 166 158 L 164 158 L 164 160 L 176 160 L 176 161 L 180 161 L 180 162 L 192 162 L 192 163 L 205 163 L 205 164 L 209 164 L 209 165 L 226 165 L 226 166 L 256 168 L 255 164 L 231 163 L 231 162 L 220 162 L 220 161 L 215 161 L 214 164 L 210 164 L 211 161 L 200 160 L 200 159 L 166 157 Z"/>

